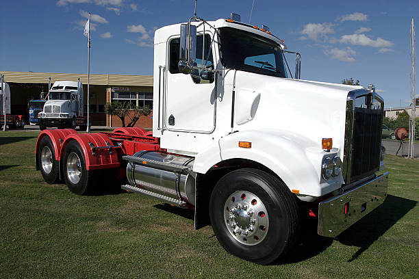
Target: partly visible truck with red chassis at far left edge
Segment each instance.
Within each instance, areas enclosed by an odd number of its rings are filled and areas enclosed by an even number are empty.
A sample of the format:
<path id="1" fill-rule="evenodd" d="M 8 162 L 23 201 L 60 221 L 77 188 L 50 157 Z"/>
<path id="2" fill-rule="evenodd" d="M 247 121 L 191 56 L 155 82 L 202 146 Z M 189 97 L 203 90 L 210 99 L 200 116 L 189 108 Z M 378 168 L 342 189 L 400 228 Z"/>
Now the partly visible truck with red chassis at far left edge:
<path id="1" fill-rule="evenodd" d="M 8 83 L 0 83 L 0 127 L 5 122 L 9 129 L 23 129 L 26 118 L 23 115 L 12 114 L 10 109 L 10 87 Z"/>

